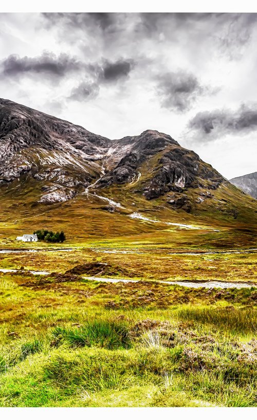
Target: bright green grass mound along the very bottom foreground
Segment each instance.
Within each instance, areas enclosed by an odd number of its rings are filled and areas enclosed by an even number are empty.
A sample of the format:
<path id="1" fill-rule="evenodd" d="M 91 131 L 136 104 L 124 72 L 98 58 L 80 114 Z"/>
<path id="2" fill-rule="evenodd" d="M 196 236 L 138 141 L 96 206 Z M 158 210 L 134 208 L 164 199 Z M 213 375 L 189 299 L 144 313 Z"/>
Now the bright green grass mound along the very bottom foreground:
<path id="1" fill-rule="evenodd" d="M 30 356 L 4 374 L 0 401 L 2 406 L 28 407 L 255 406 L 254 380 L 249 375 L 240 381 L 228 377 L 224 355 L 212 371 L 186 366 L 185 353 L 176 358 L 172 354 L 162 346 L 115 351 L 52 349 Z M 245 369 L 251 373 L 250 366 Z M 141 389 L 150 397 L 141 395 Z M 110 395 L 116 398 L 110 401 Z"/>

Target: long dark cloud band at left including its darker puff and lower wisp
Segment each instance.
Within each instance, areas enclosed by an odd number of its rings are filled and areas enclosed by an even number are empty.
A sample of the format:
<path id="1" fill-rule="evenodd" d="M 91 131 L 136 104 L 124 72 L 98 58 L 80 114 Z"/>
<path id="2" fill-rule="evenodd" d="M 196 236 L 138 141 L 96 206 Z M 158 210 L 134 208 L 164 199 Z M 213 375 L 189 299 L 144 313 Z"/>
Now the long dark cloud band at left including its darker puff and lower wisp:
<path id="1" fill-rule="evenodd" d="M 82 81 L 71 89 L 67 99 L 83 101 L 96 98 L 102 84 L 126 80 L 134 64 L 133 60 L 122 58 L 116 61 L 102 58 L 99 62 L 90 63 L 70 57 L 66 53 L 56 56 L 56 54 L 44 51 L 39 57 L 10 55 L 0 62 L 0 74 L 18 83 L 20 83 L 20 77 L 24 75 L 40 76 L 40 80 L 47 78 L 54 83 L 67 77 L 70 77 L 70 81 L 75 81 L 79 76 Z M 57 110 L 59 110 L 58 107 Z"/>

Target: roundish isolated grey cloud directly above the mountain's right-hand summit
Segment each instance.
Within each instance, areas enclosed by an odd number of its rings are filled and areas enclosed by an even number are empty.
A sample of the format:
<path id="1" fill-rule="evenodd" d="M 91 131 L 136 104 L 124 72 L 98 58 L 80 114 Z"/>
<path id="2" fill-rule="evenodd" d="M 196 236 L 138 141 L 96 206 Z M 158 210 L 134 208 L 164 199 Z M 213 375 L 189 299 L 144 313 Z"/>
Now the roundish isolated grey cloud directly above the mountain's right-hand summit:
<path id="1" fill-rule="evenodd" d="M 183 71 L 163 74 L 156 88 L 161 105 L 175 112 L 187 111 L 204 92 L 197 78 Z"/>

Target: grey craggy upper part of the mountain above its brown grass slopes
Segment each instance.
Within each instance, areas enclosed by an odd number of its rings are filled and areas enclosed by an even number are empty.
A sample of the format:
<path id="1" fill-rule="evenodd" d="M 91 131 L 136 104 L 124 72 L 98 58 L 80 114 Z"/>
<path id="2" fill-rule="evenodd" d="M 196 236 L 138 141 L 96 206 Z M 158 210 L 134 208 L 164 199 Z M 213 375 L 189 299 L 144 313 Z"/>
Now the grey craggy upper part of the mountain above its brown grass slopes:
<path id="1" fill-rule="evenodd" d="M 224 180 L 170 135 L 145 130 L 110 140 L 15 102 L 0 99 L 0 186 L 23 180 L 41 186 L 39 203 L 62 202 L 86 191 L 128 185 L 146 199 Z"/>

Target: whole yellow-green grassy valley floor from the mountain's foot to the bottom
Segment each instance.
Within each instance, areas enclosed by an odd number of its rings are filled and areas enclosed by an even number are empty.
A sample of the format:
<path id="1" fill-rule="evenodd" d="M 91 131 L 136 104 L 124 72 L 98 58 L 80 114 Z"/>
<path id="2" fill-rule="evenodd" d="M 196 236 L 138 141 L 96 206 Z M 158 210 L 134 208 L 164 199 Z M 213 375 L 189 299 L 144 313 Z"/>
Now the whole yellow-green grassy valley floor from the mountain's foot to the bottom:
<path id="1" fill-rule="evenodd" d="M 257 405 L 255 250 L 57 245 L 0 252 L 0 406 Z"/>

